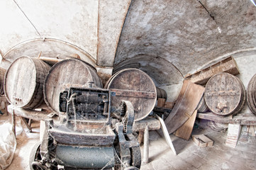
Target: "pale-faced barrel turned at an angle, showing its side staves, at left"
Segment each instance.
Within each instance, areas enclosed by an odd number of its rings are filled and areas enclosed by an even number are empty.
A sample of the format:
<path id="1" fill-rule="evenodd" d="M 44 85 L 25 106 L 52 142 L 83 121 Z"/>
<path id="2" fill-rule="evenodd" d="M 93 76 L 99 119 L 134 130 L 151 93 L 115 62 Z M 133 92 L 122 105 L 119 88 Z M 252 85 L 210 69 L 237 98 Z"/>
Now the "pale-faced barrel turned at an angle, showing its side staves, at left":
<path id="1" fill-rule="evenodd" d="M 20 108 L 37 108 L 43 103 L 43 81 L 50 66 L 33 57 L 18 57 L 7 69 L 4 93 L 7 100 Z"/>

